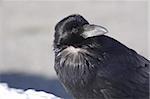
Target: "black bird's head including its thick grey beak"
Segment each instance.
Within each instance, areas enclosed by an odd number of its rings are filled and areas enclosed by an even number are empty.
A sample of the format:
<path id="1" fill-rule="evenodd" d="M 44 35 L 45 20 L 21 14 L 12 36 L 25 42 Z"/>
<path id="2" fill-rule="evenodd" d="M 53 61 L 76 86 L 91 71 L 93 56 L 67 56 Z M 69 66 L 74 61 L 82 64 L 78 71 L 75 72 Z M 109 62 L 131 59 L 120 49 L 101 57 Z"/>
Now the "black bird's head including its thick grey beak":
<path id="1" fill-rule="evenodd" d="M 87 38 L 107 32 L 102 26 L 89 24 L 81 15 L 70 15 L 56 24 L 54 47 L 76 46 Z"/>

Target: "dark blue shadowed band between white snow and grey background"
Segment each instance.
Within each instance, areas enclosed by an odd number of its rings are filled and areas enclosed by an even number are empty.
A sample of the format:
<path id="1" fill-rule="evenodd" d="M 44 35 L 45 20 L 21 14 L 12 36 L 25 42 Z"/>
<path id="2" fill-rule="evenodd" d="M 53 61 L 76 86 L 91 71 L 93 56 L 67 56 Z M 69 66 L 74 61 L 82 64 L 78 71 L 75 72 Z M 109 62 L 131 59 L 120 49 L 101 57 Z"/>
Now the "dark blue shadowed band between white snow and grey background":
<path id="1" fill-rule="evenodd" d="M 64 99 L 72 99 L 56 78 L 52 79 L 41 75 L 24 73 L 0 73 L 0 83 L 6 83 L 9 88 L 22 90 L 34 89 L 36 91 L 44 91 Z"/>

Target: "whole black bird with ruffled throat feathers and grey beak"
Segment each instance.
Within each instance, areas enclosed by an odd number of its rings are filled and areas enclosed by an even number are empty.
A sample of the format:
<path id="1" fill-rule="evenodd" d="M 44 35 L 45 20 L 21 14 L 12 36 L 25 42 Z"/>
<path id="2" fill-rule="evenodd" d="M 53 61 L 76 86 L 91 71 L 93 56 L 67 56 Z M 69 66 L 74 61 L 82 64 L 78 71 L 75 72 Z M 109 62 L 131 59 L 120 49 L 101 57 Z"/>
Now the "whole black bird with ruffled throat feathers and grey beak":
<path id="1" fill-rule="evenodd" d="M 70 15 L 55 27 L 55 70 L 75 99 L 149 99 L 150 61 Z"/>

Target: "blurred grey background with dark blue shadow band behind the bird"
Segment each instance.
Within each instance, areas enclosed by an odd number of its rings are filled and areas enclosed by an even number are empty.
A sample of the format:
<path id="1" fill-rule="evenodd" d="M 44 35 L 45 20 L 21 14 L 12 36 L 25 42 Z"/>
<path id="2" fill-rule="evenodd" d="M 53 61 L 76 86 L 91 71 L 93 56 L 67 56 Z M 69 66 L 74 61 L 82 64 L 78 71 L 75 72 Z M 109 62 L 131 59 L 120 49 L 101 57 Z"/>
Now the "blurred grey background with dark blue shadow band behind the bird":
<path id="1" fill-rule="evenodd" d="M 56 23 L 74 13 L 106 27 L 109 30 L 106 35 L 150 59 L 146 0 L 1 0 L 0 82 L 71 99 L 53 68 L 53 35 Z"/>

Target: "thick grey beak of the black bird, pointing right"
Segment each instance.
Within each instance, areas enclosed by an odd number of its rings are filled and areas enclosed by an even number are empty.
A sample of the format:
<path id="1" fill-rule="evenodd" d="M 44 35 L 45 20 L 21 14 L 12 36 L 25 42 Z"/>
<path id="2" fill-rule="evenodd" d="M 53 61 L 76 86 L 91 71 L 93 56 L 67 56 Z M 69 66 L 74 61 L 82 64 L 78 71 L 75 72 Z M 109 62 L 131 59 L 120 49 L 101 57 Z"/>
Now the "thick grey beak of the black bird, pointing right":
<path id="1" fill-rule="evenodd" d="M 100 35 L 104 35 L 105 33 L 108 32 L 108 30 L 106 28 L 104 28 L 102 26 L 98 26 L 98 25 L 92 25 L 92 24 L 84 25 L 83 30 L 84 31 L 81 34 L 81 36 L 83 38 L 100 36 Z"/>

